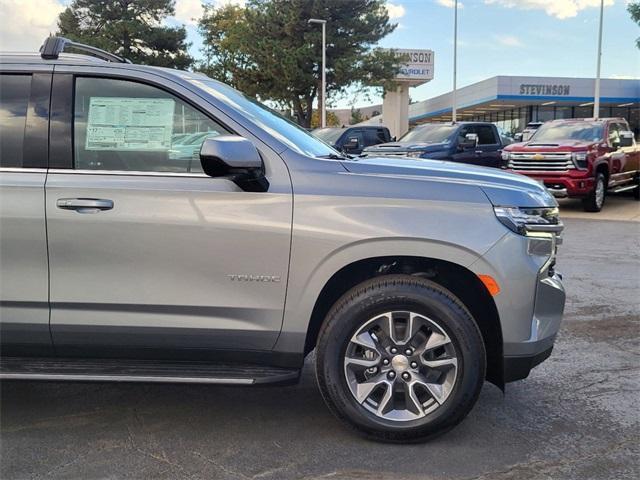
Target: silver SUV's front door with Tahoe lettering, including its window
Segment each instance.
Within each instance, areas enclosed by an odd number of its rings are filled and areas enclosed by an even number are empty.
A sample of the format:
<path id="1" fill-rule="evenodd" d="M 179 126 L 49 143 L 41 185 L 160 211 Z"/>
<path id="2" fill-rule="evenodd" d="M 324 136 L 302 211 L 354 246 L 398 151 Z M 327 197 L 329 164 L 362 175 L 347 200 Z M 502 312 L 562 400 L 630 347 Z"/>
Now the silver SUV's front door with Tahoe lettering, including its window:
<path id="1" fill-rule="evenodd" d="M 204 139 L 233 132 L 197 105 L 132 80 L 62 83 L 75 93 L 73 168 L 46 183 L 56 350 L 270 349 L 291 236 L 282 160 L 256 144 L 271 186 L 244 192 L 202 173 Z"/>

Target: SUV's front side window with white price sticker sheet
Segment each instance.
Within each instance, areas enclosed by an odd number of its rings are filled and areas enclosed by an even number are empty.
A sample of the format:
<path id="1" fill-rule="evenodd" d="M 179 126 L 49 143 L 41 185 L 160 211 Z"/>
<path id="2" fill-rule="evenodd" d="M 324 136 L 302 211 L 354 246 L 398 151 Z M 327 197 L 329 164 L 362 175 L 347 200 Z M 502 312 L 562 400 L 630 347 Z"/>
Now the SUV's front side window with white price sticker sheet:
<path id="1" fill-rule="evenodd" d="M 76 169 L 202 172 L 202 142 L 228 133 L 159 88 L 128 80 L 76 79 Z"/>

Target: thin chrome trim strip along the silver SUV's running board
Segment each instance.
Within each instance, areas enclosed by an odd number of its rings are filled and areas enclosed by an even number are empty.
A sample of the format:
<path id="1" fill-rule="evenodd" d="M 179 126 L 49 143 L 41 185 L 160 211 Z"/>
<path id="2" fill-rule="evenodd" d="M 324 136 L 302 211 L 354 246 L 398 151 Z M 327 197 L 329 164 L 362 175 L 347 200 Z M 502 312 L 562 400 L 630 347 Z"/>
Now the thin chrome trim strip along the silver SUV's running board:
<path id="1" fill-rule="evenodd" d="M 48 373 L 0 373 L 1 380 L 70 380 L 82 382 L 150 382 L 150 383 L 207 383 L 253 385 L 253 378 L 215 378 L 215 377 L 161 377 L 150 375 L 82 375 Z"/>

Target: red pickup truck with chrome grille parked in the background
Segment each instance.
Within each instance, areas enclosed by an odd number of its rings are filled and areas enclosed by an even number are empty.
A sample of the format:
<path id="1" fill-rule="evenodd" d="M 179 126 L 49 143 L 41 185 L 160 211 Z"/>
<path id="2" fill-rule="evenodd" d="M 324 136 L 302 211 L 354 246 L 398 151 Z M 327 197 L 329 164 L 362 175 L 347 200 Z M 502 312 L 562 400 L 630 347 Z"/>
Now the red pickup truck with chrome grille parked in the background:
<path id="1" fill-rule="evenodd" d="M 640 199 L 640 147 L 623 118 L 547 122 L 528 142 L 505 147 L 502 160 L 556 197 L 582 198 L 588 212 L 599 212 L 607 193 L 634 190 Z"/>

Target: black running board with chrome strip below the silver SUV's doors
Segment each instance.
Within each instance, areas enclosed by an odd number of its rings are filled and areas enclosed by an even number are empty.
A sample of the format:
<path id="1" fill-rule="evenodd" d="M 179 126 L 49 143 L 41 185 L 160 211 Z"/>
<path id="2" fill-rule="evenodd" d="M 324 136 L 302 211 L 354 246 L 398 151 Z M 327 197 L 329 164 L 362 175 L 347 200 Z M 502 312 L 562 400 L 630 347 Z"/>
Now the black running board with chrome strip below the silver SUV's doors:
<path id="1" fill-rule="evenodd" d="M 249 364 L 164 360 L 2 357 L 0 380 L 205 383 L 295 383 L 300 370 Z"/>

